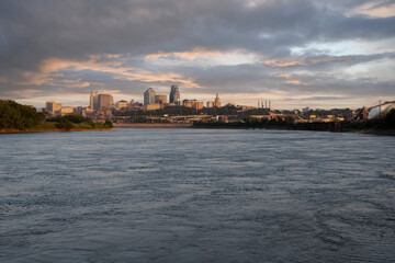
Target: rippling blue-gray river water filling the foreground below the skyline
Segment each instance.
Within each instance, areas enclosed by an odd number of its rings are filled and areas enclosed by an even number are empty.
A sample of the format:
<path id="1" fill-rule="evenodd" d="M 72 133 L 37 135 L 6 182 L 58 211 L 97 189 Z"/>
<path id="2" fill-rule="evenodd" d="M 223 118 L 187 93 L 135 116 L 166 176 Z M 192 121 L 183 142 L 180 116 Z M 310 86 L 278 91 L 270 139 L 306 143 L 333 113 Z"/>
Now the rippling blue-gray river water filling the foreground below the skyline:
<path id="1" fill-rule="evenodd" d="M 0 135 L 0 262 L 394 262 L 395 137 Z"/>

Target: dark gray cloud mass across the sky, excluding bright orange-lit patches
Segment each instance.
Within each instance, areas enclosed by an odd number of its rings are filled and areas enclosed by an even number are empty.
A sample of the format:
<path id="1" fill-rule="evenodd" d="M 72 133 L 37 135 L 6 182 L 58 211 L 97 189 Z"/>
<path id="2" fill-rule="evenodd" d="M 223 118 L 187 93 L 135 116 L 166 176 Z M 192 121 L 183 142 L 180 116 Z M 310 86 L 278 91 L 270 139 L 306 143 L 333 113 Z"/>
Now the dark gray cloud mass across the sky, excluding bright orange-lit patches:
<path id="1" fill-rule="evenodd" d="M 25 72 L 41 72 L 49 58 L 87 61 L 94 54 L 123 54 L 124 66 L 155 72 L 176 72 L 191 78 L 207 93 L 255 92 L 360 92 L 394 95 L 393 82 L 377 79 L 347 79 L 338 67 L 394 59 L 394 53 L 334 56 L 306 50 L 295 57 L 292 49 L 312 43 L 342 41 L 393 42 L 395 16 L 373 18 L 350 13 L 364 3 L 372 9 L 394 1 L 313 0 L 13 0 L 0 2 L 0 96 L 19 98 L 20 91 L 35 94 L 87 93 L 88 89 L 120 90 L 136 94 L 150 85 L 171 81 L 122 80 L 115 72 L 59 69 L 43 84 L 21 85 Z M 158 52 L 206 50 L 246 53 L 261 56 L 255 64 L 216 66 L 156 66 L 144 56 Z M 321 50 L 323 52 L 323 50 Z M 373 54 L 373 55 L 372 55 Z M 266 59 L 301 59 L 304 65 L 271 67 Z M 114 59 L 116 60 L 116 59 Z M 101 61 L 101 60 L 100 60 Z M 98 62 L 100 62 L 98 60 Z M 312 62 L 318 61 L 318 62 Z M 320 62 L 319 62 L 320 61 Z M 314 73 L 301 75 L 305 70 Z M 328 72 L 327 72 L 328 71 Z M 281 78 L 279 75 L 290 77 Z M 89 82 L 89 88 L 65 84 Z M 1 79 L 0 79 L 1 81 Z M 297 84 L 297 81 L 301 83 Z M 347 91 L 347 92 L 345 92 Z"/>

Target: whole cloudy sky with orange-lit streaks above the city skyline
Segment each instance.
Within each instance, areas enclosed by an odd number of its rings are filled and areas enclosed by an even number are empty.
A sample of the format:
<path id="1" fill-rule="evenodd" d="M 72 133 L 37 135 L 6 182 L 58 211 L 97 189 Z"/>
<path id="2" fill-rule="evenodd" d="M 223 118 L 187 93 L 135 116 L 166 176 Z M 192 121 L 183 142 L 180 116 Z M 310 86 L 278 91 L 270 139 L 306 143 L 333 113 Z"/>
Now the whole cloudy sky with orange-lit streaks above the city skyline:
<path id="1" fill-rule="evenodd" d="M 0 99 L 395 100 L 395 0 L 0 0 Z"/>

